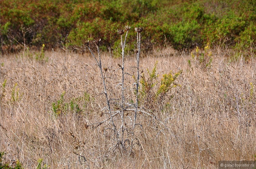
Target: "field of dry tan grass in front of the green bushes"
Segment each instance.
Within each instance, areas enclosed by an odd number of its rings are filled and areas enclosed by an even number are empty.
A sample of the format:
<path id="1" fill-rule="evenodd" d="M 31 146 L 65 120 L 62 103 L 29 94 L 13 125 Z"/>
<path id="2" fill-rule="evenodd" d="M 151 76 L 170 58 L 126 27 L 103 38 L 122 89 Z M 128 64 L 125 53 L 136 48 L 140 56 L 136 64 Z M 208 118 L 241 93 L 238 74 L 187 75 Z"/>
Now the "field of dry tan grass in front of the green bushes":
<path id="1" fill-rule="evenodd" d="M 171 48 L 142 56 L 140 70 L 146 78 L 146 69 L 152 70 L 158 60 L 158 79 L 182 70 L 176 81 L 180 86 L 161 101 L 140 102 L 145 112 L 138 113 L 133 135 L 134 112 L 124 113 L 124 151 L 111 129 L 99 68 L 89 53 L 47 51 L 43 60 L 22 53 L 0 56 L 0 151 L 6 153 L 5 162 L 19 160 L 24 168 L 36 168 L 42 158 L 43 165 L 56 169 L 175 169 L 255 160 L 256 59 L 234 60 L 232 52 L 211 52 L 208 67 L 209 60 Z M 102 53 L 102 64 L 116 111 L 122 60 Z M 136 59 L 130 54 L 124 70 L 129 73 L 124 78 L 127 102 L 135 98 L 134 67 Z M 120 129 L 120 114 L 113 121 Z"/>

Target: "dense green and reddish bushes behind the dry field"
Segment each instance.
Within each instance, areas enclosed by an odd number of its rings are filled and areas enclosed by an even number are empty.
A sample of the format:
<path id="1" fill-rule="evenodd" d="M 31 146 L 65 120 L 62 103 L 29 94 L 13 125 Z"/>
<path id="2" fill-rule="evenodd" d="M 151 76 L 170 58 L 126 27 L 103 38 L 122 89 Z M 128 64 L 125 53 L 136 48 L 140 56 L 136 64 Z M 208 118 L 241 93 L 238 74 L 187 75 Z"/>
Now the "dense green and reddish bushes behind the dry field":
<path id="1" fill-rule="evenodd" d="M 97 37 L 102 49 L 115 49 L 116 29 L 123 25 L 146 28 L 144 49 L 167 42 L 175 49 L 207 43 L 248 49 L 256 39 L 256 3 L 250 0 L 2 0 L 0 6 L 2 51 L 42 44 L 81 48 Z"/>

